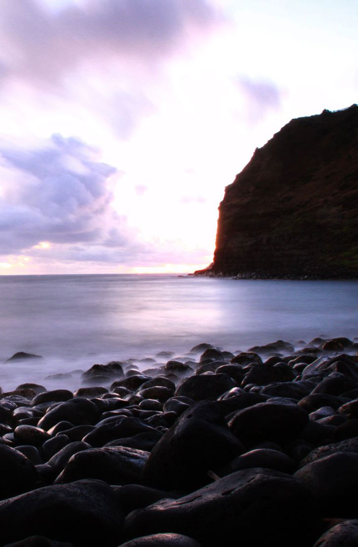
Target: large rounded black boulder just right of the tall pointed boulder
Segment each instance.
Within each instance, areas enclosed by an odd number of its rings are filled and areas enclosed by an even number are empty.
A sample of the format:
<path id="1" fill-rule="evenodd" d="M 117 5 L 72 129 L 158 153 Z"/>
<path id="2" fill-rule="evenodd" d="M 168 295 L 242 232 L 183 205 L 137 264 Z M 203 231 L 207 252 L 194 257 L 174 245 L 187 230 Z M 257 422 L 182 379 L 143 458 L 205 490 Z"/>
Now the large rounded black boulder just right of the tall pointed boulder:
<path id="1" fill-rule="evenodd" d="M 299 406 L 268 401 L 239 410 L 228 425 L 235 437 L 251 447 L 264 440 L 287 443 L 299 437 L 307 423 L 308 414 Z"/>

